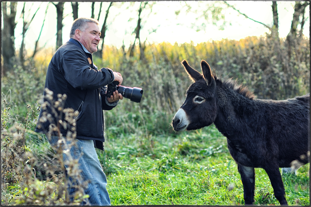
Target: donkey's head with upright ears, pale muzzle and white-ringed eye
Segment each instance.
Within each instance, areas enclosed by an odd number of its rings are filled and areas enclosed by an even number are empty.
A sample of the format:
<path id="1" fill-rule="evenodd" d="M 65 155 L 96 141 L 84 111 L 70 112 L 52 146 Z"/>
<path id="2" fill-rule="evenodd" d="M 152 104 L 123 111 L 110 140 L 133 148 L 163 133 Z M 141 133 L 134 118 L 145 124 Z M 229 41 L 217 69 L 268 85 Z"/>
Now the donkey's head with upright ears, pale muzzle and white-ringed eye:
<path id="1" fill-rule="evenodd" d="M 217 116 L 216 82 L 210 66 L 204 60 L 201 61 L 202 75 L 190 67 L 186 60 L 181 63 L 194 83 L 189 86 L 186 99 L 175 114 L 172 126 L 175 131 L 209 126 Z"/>

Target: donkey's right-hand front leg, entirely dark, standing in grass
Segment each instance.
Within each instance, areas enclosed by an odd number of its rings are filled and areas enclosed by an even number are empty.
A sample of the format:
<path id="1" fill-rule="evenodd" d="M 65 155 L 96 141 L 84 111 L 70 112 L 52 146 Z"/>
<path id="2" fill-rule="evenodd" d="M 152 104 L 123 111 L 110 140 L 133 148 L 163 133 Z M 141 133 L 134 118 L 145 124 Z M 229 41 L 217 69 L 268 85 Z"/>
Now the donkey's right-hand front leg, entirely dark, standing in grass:
<path id="1" fill-rule="evenodd" d="M 285 198 L 285 189 L 278 165 L 270 165 L 269 167 L 265 167 L 264 169 L 269 176 L 276 199 L 280 202 L 280 205 L 287 205 L 287 201 Z"/>

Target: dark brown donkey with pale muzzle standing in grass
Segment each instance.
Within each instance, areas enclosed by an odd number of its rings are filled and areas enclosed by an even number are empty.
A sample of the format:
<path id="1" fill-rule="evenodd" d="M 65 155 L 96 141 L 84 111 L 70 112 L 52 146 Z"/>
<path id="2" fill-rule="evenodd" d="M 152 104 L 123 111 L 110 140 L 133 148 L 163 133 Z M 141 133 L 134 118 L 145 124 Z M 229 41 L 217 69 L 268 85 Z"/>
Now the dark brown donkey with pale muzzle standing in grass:
<path id="1" fill-rule="evenodd" d="M 194 83 L 173 118 L 174 130 L 195 130 L 214 122 L 238 165 L 245 205 L 254 202 L 254 168 L 266 171 L 276 199 L 287 205 L 279 168 L 309 163 L 310 94 L 281 101 L 257 99 L 237 81 L 221 81 L 204 60 L 203 75 L 186 60 L 181 63 Z"/>

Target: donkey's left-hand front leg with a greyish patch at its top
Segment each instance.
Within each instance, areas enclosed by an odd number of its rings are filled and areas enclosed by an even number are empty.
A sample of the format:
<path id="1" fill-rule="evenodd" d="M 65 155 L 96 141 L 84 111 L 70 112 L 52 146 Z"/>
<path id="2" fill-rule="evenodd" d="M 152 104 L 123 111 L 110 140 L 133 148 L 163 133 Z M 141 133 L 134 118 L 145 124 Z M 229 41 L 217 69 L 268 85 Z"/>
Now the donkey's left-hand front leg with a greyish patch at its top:
<path id="1" fill-rule="evenodd" d="M 252 205 L 255 191 L 255 170 L 252 167 L 238 164 L 238 171 L 243 183 L 244 203 L 245 205 Z"/>

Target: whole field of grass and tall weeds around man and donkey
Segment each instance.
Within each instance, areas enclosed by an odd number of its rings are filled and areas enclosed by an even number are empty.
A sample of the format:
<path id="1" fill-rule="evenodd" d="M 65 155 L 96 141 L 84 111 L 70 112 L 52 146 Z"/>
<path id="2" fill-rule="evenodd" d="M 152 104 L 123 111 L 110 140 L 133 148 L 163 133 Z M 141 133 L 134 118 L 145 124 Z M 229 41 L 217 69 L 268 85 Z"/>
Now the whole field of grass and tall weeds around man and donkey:
<path id="1" fill-rule="evenodd" d="M 123 99 L 105 111 L 105 151 L 97 151 L 111 205 L 243 205 L 243 185 L 226 138 L 214 125 L 176 133 L 172 117 L 195 69 L 206 60 L 221 79 L 237 78 L 258 98 L 286 99 L 310 91 L 310 44 L 275 44 L 269 36 L 201 44 L 149 44 L 129 57 L 105 47 L 95 64 L 122 74 L 124 86 L 144 90 L 141 103 Z M 68 205 L 62 167 L 46 137 L 34 132 L 45 73 L 53 53 L 43 51 L 26 69 L 16 62 L 1 78 L 2 205 Z M 73 175 L 78 175 L 77 171 Z M 255 205 L 279 205 L 269 177 L 256 169 Z M 282 175 L 289 205 L 310 205 L 309 164 Z M 83 196 L 76 195 L 76 202 Z"/>

